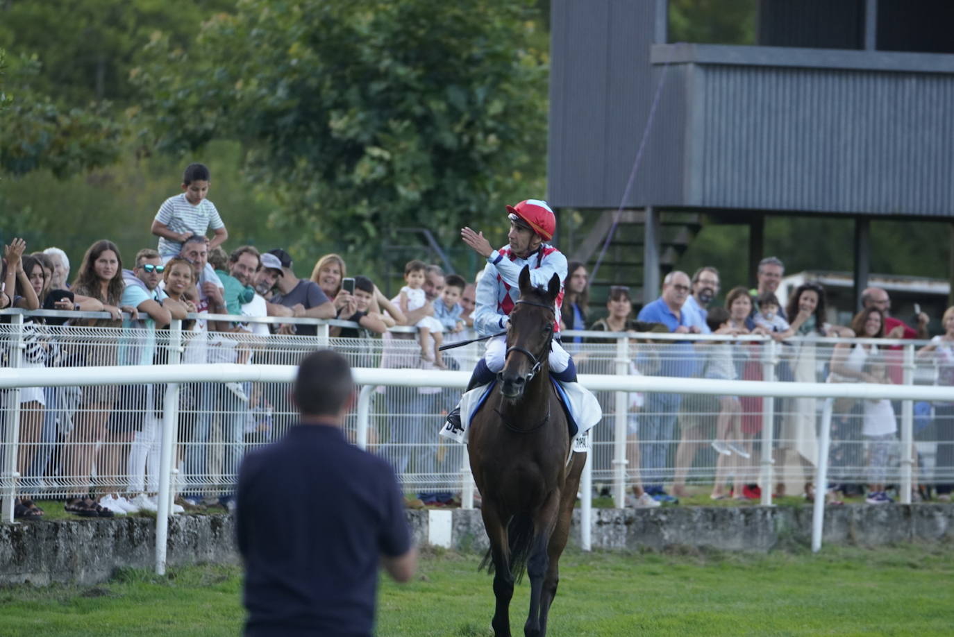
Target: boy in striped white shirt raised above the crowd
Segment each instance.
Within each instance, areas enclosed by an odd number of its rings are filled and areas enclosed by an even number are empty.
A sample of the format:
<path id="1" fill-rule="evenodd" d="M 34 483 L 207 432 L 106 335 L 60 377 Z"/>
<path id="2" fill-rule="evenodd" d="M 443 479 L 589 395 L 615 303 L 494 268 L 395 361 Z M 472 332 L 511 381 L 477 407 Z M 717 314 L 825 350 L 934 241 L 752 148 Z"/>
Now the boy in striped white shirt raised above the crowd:
<path id="1" fill-rule="evenodd" d="M 225 242 L 229 233 L 215 204 L 205 198 L 209 194 L 211 175 L 204 164 L 189 164 L 182 175 L 180 195 L 171 196 L 159 207 L 151 232 L 159 237 L 158 252 L 165 263 L 182 251 L 182 243 L 193 235 L 205 236 L 211 227 L 216 235 L 209 249 Z"/>

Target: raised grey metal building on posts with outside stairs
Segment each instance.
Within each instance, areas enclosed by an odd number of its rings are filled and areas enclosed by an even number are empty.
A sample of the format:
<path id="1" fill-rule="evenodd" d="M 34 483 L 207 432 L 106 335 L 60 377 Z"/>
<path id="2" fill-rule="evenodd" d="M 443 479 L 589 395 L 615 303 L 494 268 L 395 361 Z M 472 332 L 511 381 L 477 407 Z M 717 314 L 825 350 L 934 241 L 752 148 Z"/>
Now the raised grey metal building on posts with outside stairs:
<path id="1" fill-rule="evenodd" d="M 856 294 L 870 219 L 954 220 L 954 3 L 762 0 L 757 46 L 670 43 L 667 4 L 551 5 L 550 203 L 642 211 L 644 299 L 669 213 L 748 223 L 750 264 L 767 215 L 850 216 Z"/>

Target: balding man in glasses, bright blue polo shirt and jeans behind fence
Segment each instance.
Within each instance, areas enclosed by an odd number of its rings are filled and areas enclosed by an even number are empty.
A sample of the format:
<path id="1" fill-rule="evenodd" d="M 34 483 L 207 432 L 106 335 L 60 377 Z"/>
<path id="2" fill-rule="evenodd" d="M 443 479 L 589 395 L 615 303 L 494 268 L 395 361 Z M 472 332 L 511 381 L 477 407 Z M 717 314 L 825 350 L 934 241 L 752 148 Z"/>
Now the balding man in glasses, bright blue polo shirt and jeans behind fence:
<path id="1" fill-rule="evenodd" d="M 675 334 L 698 334 L 700 328 L 694 317 L 683 311 L 689 298 L 691 281 L 685 272 L 671 272 L 663 279 L 662 296 L 647 303 L 639 311 L 638 320 L 663 323 Z M 659 368 L 655 376 L 692 378 L 695 376 L 695 350 L 692 343 L 667 341 L 660 346 Z M 681 394 L 647 395 L 640 417 L 640 470 L 643 473 L 646 493 L 659 502 L 678 502 L 662 488 L 662 477 L 668 466 L 669 447 L 674 442 L 676 413 Z"/>

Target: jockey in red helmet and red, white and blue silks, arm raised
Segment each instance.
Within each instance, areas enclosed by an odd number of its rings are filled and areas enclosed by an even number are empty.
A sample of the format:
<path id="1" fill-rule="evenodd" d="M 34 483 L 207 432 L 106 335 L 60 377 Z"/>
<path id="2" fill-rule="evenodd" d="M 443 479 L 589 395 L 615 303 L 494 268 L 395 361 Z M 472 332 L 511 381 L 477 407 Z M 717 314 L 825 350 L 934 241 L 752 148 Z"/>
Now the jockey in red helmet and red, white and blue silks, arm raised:
<path id="1" fill-rule="evenodd" d="M 461 238 L 481 257 L 487 259 L 487 267 L 477 281 L 477 308 L 474 311 L 474 329 L 482 336 L 500 334 L 507 329 L 510 311 L 520 298 L 517 278 L 524 266 L 529 265 L 530 282 L 534 286 L 547 287 L 550 277 L 560 277 L 560 295 L 556 298 L 556 323 L 553 329 L 559 334 L 560 305 L 563 301 L 563 281 L 567 278 L 567 257 L 545 243 L 556 231 L 556 217 L 550 205 L 541 199 L 526 199 L 516 206 L 507 207 L 510 220 L 509 244 L 499 250 L 490 247 L 484 233 L 470 228 L 461 230 Z M 496 378 L 504 368 L 507 352 L 507 337 L 495 336 L 487 341 L 487 351 L 477 361 L 467 390 L 485 385 Z M 550 351 L 550 374 L 562 382 L 576 382 L 576 366 L 559 339 L 553 339 Z M 461 426 L 460 405 L 447 414 L 447 422 L 453 428 Z"/>

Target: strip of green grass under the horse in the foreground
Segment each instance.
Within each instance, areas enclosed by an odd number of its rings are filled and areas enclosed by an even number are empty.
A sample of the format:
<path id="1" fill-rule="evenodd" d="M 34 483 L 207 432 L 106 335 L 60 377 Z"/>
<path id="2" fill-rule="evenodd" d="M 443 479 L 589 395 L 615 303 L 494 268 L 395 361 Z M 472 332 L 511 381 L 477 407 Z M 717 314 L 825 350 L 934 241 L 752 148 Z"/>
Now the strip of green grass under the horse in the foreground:
<path id="1" fill-rule="evenodd" d="M 412 583 L 384 581 L 378 634 L 492 634 L 490 578 L 478 555 L 428 552 Z M 550 635 L 950 635 L 950 543 L 826 547 L 767 555 L 676 550 L 584 554 L 561 562 Z M 511 604 L 523 634 L 524 581 Z M 240 570 L 204 565 L 167 577 L 123 570 L 99 586 L 0 588 L 0 635 L 236 635 Z"/>

